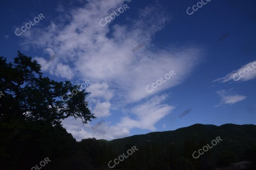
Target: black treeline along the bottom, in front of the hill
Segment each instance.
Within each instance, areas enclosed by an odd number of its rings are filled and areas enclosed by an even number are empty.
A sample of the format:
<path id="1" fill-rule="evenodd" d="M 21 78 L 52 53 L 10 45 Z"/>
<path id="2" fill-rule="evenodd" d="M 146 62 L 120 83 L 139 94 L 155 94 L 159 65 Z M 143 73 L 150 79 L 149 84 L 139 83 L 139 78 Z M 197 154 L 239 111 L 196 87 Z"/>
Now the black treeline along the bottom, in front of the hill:
<path id="1" fill-rule="evenodd" d="M 20 120 L 0 125 L 2 170 L 29 170 L 46 157 L 51 162 L 41 170 L 110 169 L 110 160 L 114 160 L 134 146 L 134 143 L 125 144 L 116 151 L 111 143 L 95 138 L 76 142 L 61 126 L 53 127 L 40 121 L 25 123 Z M 199 159 L 194 159 L 192 153 L 199 147 L 189 140 L 185 141 L 184 149 L 177 148 L 170 142 L 147 142 L 145 145 L 137 146 L 138 151 L 113 169 L 211 170 L 238 162 L 241 157 L 255 161 L 256 145 L 246 151 L 247 155 L 238 155 L 232 151 L 213 154 L 210 150 Z"/>

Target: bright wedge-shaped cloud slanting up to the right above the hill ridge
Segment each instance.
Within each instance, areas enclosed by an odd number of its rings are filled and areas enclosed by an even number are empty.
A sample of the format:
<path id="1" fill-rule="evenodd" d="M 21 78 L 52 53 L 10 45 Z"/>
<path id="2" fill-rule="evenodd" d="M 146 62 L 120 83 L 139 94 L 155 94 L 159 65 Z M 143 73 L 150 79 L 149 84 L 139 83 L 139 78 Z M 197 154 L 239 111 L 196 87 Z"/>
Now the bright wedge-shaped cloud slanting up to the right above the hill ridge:
<path id="1" fill-rule="evenodd" d="M 116 126 L 125 127 L 128 129 L 141 128 L 156 130 L 154 127 L 155 123 L 175 109 L 174 106 L 161 104 L 166 98 L 166 95 L 154 96 L 149 101 L 135 106 L 132 109 L 132 113 L 136 118 L 132 119 L 130 117 L 124 117 Z"/>

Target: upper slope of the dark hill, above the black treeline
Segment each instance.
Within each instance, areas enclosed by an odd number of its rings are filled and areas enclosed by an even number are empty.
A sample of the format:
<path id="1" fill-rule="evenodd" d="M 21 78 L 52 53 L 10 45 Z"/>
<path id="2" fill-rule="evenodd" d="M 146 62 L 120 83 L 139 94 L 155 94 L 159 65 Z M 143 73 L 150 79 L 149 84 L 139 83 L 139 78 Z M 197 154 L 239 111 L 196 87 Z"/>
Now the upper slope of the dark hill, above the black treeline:
<path id="1" fill-rule="evenodd" d="M 195 124 L 171 131 L 150 132 L 114 139 L 108 141 L 108 143 L 111 143 L 116 150 L 119 150 L 118 148 L 126 144 L 132 143 L 137 146 L 148 142 L 167 142 L 182 147 L 187 139 L 194 139 L 196 143 L 200 139 L 204 139 L 207 143 L 210 143 L 217 136 L 220 136 L 223 139 L 221 143 L 229 148 L 252 145 L 256 143 L 256 125 L 224 124 L 215 126 Z"/>

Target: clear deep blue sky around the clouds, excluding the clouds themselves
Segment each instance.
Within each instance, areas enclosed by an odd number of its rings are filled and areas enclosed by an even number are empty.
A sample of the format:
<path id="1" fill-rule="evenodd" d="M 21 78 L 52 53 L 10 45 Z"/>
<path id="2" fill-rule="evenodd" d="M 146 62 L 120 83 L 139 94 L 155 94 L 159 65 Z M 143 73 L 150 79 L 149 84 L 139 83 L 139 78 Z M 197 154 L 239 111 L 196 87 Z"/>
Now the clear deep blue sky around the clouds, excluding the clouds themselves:
<path id="1" fill-rule="evenodd" d="M 64 6 L 80 6 L 80 3 L 76 1 L 60 2 Z M 203 50 L 203 59 L 198 67 L 191 70 L 192 74 L 182 84 L 159 93 L 170 94 L 165 103 L 176 108 L 158 121 L 155 127 L 157 131 L 166 131 L 196 123 L 218 126 L 226 123 L 256 125 L 255 78 L 243 82 L 212 82 L 256 59 L 256 1 L 211 0 L 195 11 L 193 15 L 188 15 L 187 8 L 197 2 L 199 0 L 159 1 L 159 4 L 171 16 L 171 20 L 155 34 L 152 41 L 154 47 L 151 50 L 154 48 L 164 50 L 170 48 L 170 45 L 179 47 L 196 44 Z M 51 0 L 3 1 L 0 6 L 0 55 L 7 57 L 8 61 L 13 61 L 17 50 L 20 50 L 27 56 L 41 56 L 48 59 L 49 56 L 43 53 L 43 49 L 25 49 L 20 44 L 23 37 L 16 36 L 14 31 L 24 23 L 32 21 L 40 13 L 43 13 L 46 18 L 31 29 L 47 27 L 52 18 L 58 16 L 58 12 L 56 12 L 58 3 L 59 1 Z M 154 0 L 133 0 L 127 4 L 130 9 L 113 20 L 109 27 L 115 24 L 129 24 L 129 20 L 126 20 L 127 17 L 131 20 L 136 19 L 139 9 L 149 5 L 154 6 L 156 2 Z M 221 42 L 216 42 L 225 33 L 229 33 L 228 37 Z M 5 38 L 7 35 L 9 37 Z M 44 72 L 44 76 L 49 76 L 57 81 L 66 80 L 51 75 L 49 72 Z M 77 83 L 83 80 L 72 79 L 71 81 Z M 215 107 L 221 100 L 216 91 L 229 89 L 233 89 L 236 94 L 244 95 L 247 98 L 231 105 L 224 104 Z M 128 108 L 131 106 L 133 104 L 127 105 Z M 178 116 L 188 108 L 191 108 L 192 111 L 180 119 Z M 123 113 L 116 110 L 112 110 L 111 113 L 110 117 L 103 119 L 111 122 L 110 125 L 115 125 Z M 92 124 L 99 120 L 101 119 L 94 120 Z M 166 128 L 163 128 L 163 124 L 166 125 Z M 148 132 L 151 130 L 133 128 L 130 130 L 130 135 Z"/>

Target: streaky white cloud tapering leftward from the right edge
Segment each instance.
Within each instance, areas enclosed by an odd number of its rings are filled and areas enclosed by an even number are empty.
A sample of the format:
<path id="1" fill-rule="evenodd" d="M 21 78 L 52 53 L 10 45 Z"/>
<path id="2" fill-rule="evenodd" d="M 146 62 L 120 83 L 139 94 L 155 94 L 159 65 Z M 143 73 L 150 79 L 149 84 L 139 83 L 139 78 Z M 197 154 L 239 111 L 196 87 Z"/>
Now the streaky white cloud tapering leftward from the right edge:
<path id="1" fill-rule="evenodd" d="M 232 71 L 225 77 L 218 78 L 215 81 L 222 83 L 227 81 L 248 81 L 256 77 L 256 60 L 249 62 L 248 64 L 241 66 L 238 70 Z"/>

